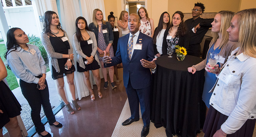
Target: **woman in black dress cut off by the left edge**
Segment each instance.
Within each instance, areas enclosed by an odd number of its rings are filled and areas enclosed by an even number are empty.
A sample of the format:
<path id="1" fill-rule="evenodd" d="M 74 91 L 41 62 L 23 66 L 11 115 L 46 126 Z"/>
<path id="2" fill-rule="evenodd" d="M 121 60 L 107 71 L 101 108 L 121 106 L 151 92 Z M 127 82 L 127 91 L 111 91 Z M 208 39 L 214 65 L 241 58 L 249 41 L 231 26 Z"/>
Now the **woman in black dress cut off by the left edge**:
<path id="1" fill-rule="evenodd" d="M 17 116 L 21 114 L 21 105 L 4 83 L 5 77 L 7 77 L 7 71 L 0 57 L 0 137 L 3 136 L 3 127 L 8 130 L 9 136 L 21 137 L 21 129 L 17 120 Z"/>

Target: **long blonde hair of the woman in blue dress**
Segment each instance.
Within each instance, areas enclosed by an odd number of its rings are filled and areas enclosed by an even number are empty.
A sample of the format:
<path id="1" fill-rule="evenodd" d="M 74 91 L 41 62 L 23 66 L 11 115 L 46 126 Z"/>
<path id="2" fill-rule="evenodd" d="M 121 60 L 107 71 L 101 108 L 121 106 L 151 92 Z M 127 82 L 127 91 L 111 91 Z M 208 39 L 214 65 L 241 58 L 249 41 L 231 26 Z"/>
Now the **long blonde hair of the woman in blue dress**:
<path id="1" fill-rule="evenodd" d="M 228 43 L 229 33 L 227 32 L 227 29 L 230 27 L 230 22 L 235 15 L 235 12 L 222 10 L 218 12 L 217 14 L 221 15 L 221 28 L 220 28 L 220 34 L 221 34 L 221 43 L 219 45 L 219 49 Z M 212 32 L 213 34 L 213 40 L 210 42 L 210 45 L 213 45 L 213 43 L 216 42 L 216 40 L 219 38 L 218 32 Z"/>

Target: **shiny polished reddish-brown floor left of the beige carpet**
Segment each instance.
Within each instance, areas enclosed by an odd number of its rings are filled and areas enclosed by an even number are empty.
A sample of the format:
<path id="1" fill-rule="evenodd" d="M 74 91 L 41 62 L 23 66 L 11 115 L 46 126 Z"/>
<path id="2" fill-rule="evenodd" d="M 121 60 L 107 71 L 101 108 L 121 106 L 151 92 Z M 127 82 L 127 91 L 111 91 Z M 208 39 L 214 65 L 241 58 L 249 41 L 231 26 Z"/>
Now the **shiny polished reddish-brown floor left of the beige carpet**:
<path id="1" fill-rule="evenodd" d="M 119 77 L 122 80 L 122 69 L 118 69 Z M 62 128 L 45 125 L 46 131 L 54 137 L 110 137 L 115 129 L 115 125 L 127 100 L 123 81 L 117 88 L 112 90 L 103 89 L 104 79 L 102 79 L 103 98 L 97 96 L 96 85 L 93 91 L 96 100 L 91 101 L 90 96 L 83 97 L 77 103 L 82 107 L 81 111 L 75 111 L 71 115 L 64 107 L 56 114 L 56 120 L 63 124 Z M 36 134 L 34 137 L 39 137 Z"/>

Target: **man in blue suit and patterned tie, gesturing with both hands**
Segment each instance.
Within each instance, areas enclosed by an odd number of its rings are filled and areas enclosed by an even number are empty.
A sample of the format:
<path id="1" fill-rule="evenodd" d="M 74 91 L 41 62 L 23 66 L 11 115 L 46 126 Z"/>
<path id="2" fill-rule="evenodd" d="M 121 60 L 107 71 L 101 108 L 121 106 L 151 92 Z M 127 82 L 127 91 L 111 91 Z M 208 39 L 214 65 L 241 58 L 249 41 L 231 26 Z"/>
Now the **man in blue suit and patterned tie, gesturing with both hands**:
<path id="1" fill-rule="evenodd" d="M 128 17 L 130 33 L 118 39 L 115 57 L 104 56 L 104 67 L 123 63 L 123 79 L 129 100 L 131 117 L 122 125 L 129 125 L 139 120 L 139 104 L 143 120 L 141 137 L 149 133 L 150 106 L 149 92 L 151 83 L 151 71 L 154 73 L 156 64 L 154 59 L 153 40 L 151 37 L 139 31 L 140 18 L 136 14 Z M 105 53 L 105 51 L 104 51 Z"/>

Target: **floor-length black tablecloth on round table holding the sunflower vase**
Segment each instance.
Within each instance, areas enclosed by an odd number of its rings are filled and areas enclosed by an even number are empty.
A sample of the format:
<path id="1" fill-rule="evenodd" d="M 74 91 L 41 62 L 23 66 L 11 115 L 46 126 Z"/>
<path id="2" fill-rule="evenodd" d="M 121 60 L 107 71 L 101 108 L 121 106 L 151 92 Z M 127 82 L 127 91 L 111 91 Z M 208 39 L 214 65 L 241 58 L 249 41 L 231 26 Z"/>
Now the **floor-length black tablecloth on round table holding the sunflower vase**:
<path id="1" fill-rule="evenodd" d="M 195 74 L 187 69 L 202 60 L 190 55 L 185 56 L 183 61 L 178 61 L 176 56 L 168 58 L 167 55 L 156 60 L 151 121 L 157 128 L 164 126 L 167 136 L 195 137 L 204 124 L 204 69 Z"/>

